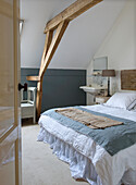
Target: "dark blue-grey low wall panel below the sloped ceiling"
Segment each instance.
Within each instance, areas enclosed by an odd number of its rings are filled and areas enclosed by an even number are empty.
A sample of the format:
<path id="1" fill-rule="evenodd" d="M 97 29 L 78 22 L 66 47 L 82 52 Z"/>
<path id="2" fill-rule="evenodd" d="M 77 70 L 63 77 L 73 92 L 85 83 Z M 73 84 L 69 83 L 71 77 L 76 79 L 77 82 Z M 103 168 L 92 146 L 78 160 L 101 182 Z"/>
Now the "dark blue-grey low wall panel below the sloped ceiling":
<path id="1" fill-rule="evenodd" d="M 36 87 L 36 82 L 27 82 L 27 75 L 38 75 L 38 69 L 22 69 L 22 83 Z M 47 70 L 44 76 L 41 112 L 50 108 L 86 104 L 86 95 L 79 86 L 86 84 L 86 70 Z"/>

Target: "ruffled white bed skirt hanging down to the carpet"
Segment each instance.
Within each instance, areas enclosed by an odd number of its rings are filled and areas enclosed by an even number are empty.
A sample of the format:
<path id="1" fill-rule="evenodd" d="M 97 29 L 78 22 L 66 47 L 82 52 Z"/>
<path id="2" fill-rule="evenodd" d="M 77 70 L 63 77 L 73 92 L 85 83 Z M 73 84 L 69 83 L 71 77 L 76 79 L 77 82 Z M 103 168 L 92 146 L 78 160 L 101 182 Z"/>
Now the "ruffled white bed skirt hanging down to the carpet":
<path id="1" fill-rule="evenodd" d="M 45 128 L 40 128 L 38 140 L 48 143 L 50 148 L 53 149 L 53 153 L 60 160 L 70 164 L 71 174 L 75 180 L 82 178 L 91 185 L 102 185 L 91 161 L 76 151 L 72 146 L 53 136 Z"/>

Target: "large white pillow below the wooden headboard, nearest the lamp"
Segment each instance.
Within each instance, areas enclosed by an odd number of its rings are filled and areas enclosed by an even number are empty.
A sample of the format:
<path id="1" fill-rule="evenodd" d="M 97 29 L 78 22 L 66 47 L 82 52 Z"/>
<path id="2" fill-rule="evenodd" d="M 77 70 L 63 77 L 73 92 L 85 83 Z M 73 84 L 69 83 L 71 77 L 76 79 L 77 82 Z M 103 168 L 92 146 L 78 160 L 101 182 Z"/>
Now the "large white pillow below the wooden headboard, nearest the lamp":
<path id="1" fill-rule="evenodd" d="M 136 100 L 136 92 L 115 92 L 104 106 L 127 110 Z"/>

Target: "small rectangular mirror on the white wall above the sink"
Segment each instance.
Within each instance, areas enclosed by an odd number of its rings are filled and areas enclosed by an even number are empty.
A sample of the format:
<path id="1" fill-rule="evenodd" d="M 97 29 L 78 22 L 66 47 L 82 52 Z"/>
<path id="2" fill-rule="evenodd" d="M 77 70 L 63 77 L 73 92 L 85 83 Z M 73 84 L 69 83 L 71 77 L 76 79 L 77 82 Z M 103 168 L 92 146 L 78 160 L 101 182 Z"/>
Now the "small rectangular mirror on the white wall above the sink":
<path id="1" fill-rule="evenodd" d="M 101 75 L 102 70 L 108 69 L 108 57 L 94 59 L 94 75 Z"/>

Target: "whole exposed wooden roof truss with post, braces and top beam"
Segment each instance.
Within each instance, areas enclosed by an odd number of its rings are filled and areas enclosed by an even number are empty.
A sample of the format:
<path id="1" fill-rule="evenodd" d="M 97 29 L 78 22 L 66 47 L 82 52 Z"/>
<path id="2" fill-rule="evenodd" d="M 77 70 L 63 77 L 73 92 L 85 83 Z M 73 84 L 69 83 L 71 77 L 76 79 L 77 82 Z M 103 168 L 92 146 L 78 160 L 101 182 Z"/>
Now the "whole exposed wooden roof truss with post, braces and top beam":
<path id="1" fill-rule="evenodd" d="M 44 74 L 61 41 L 61 38 L 69 23 L 101 1 L 103 0 L 76 0 L 73 4 L 71 4 L 69 8 L 66 8 L 64 11 L 59 13 L 57 16 L 54 16 L 51 21 L 47 23 L 44 32 L 46 34 L 46 41 L 41 58 L 39 75 L 27 76 L 27 81 L 37 81 L 36 109 L 38 118 L 40 115 L 41 110 Z M 53 36 L 54 30 L 55 34 Z"/>

